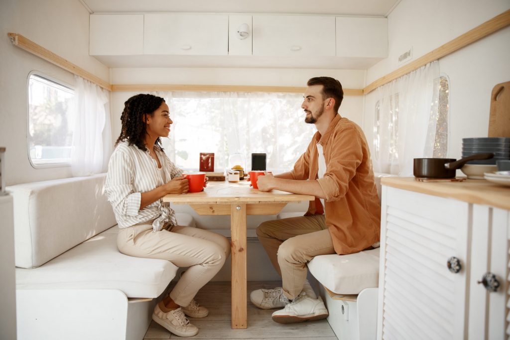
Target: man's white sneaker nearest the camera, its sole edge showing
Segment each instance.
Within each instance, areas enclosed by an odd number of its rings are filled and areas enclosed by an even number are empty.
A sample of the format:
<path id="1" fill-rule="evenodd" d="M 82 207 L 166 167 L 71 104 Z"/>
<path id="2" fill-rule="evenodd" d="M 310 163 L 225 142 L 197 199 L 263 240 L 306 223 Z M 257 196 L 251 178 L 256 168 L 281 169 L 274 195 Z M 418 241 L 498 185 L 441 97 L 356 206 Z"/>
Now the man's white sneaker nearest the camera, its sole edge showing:
<path id="1" fill-rule="evenodd" d="M 271 318 L 277 323 L 293 324 L 326 319 L 328 315 L 326 306 L 320 297 L 312 299 L 306 293 L 301 292 L 284 309 L 275 311 Z"/>

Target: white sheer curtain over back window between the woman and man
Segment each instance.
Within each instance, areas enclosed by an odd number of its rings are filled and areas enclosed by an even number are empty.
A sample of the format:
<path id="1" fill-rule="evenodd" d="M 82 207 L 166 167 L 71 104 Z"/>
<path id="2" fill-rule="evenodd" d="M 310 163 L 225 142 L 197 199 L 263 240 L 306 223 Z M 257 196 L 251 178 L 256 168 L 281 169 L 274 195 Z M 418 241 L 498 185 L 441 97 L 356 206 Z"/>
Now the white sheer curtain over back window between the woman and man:
<path id="1" fill-rule="evenodd" d="M 266 153 L 267 168 L 288 171 L 316 129 L 304 123 L 301 93 L 152 92 L 165 98 L 174 121 L 163 147 L 184 169 L 198 169 L 199 153 L 215 153 L 215 171 L 241 153 L 251 169 L 251 153 Z"/>

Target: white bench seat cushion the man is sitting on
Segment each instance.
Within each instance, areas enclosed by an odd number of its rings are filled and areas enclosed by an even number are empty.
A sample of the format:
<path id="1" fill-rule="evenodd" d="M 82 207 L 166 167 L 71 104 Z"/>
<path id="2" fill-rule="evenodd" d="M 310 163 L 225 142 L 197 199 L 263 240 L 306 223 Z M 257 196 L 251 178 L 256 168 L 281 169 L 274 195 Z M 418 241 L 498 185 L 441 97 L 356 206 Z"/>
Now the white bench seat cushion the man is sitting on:
<path id="1" fill-rule="evenodd" d="M 359 294 L 379 285 L 379 248 L 349 255 L 315 256 L 308 269 L 333 293 Z"/>

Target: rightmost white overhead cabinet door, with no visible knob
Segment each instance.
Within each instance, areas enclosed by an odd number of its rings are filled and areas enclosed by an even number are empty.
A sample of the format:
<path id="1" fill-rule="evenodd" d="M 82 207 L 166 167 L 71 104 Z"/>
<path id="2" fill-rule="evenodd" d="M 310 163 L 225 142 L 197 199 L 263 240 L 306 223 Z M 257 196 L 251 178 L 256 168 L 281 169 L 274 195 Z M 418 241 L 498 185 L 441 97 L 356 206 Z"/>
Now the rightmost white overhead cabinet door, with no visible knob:
<path id="1" fill-rule="evenodd" d="M 337 57 L 387 58 L 387 18 L 336 18 Z"/>

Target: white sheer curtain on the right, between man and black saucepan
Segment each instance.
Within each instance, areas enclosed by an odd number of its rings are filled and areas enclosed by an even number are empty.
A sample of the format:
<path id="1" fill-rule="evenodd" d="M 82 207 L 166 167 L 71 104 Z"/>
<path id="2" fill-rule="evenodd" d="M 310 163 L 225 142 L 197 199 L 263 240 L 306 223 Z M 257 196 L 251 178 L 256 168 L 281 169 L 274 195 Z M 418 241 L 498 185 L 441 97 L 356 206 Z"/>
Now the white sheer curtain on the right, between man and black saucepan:
<path id="1" fill-rule="evenodd" d="M 375 171 L 412 176 L 414 158 L 432 157 L 439 75 L 435 61 L 375 90 Z"/>

